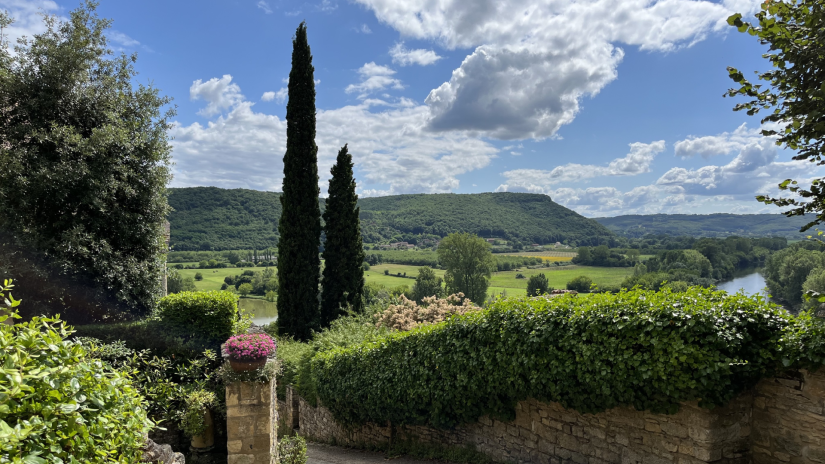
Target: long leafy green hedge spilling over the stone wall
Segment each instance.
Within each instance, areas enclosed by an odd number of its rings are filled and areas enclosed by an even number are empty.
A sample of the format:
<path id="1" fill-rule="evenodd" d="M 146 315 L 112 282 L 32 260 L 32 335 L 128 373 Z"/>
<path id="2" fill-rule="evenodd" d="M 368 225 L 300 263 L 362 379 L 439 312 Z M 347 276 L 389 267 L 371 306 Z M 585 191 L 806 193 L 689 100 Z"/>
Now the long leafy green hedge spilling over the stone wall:
<path id="1" fill-rule="evenodd" d="M 821 365 L 824 332 L 760 297 L 699 287 L 509 299 L 320 352 L 311 374 L 324 405 L 349 424 L 511 420 L 526 398 L 582 413 L 675 413 L 683 401 L 724 405 L 783 365 Z"/>

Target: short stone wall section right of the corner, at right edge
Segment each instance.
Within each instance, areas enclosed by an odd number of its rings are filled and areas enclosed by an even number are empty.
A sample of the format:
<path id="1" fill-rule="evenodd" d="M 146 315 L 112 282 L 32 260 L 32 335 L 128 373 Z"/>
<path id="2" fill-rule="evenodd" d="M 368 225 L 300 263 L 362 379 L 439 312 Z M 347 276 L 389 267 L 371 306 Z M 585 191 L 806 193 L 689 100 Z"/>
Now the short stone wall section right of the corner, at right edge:
<path id="1" fill-rule="evenodd" d="M 765 379 L 753 400 L 753 463 L 825 463 L 825 368 Z"/>

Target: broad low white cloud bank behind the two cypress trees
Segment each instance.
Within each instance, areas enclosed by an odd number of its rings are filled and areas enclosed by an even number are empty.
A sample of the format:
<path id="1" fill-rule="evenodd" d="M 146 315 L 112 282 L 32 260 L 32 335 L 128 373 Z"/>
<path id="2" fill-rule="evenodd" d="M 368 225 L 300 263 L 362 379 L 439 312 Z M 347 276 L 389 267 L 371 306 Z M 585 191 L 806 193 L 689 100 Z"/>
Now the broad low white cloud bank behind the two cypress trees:
<path id="1" fill-rule="evenodd" d="M 193 87 L 204 85 L 196 81 Z M 240 89 L 235 94 L 241 95 Z M 209 108 L 212 102 L 204 99 Z M 319 111 L 316 143 L 322 192 L 345 143 L 355 158 L 364 196 L 450 192 L 459 187 L 460 174 L 487 166 L 498 152 L 466 135 L 433 134 L 425 129 L 428 117 L 426 106 L 408 99 L 391 104 L 366 99 L 358 105 Z M 253 111 L 248 101 L 235 100 L 228 112 L 206 125 L 176 124 L 170 135 L 176 163 L 173 186 L 281 188 L 286 122 Z"/>

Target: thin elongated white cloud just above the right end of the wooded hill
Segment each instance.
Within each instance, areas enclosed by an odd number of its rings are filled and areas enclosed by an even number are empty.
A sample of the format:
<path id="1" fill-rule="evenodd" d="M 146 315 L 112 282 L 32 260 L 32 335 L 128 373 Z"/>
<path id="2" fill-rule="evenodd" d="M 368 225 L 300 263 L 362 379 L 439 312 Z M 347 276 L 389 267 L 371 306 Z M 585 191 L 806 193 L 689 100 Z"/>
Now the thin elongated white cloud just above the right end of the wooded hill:
<path id="1" fill-rule="evenodd" d="M 630 153 L 623 158 L 614 159 L 607 166 L 569 163 L 551 171 L 515 169 L 503 172 L 502 175 L 507 179 L 508 188 L 528 192 L 546 192 L 551 189 L 552 185 L 560 183 L 579 182 L 594 177 L 635 176 L 650 172 L 653 159 L 664 149 L 664 140 L 652 143 L 631 143 Z"/>

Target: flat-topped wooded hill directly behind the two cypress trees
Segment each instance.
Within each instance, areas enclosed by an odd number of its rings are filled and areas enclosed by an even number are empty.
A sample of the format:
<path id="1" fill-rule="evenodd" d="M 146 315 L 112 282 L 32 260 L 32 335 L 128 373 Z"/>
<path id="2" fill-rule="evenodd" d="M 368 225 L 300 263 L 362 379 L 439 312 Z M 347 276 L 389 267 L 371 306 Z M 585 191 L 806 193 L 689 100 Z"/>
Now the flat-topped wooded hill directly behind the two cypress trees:
<path id="1" fill-rule="evenodd" d="M 614 234 L 546 195 L 417 194 L 364 198 L 364 241 L 408 241 L 472 232 L 530 243 L 608 243 Z M 192 187 L 169 189 L 174 250 L 264 249 L 277 245 L 280 193 Z M 321 200 L 321 208 L 324 208 Z"/>

